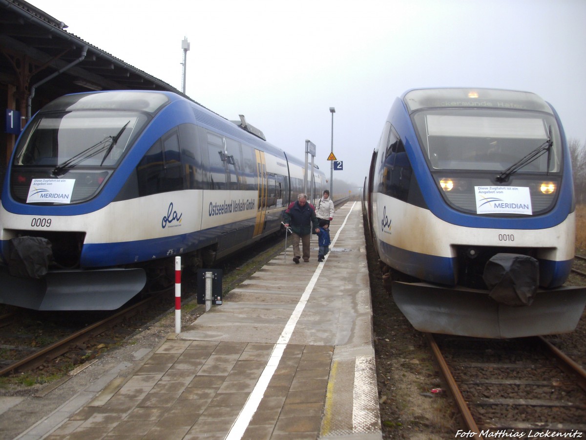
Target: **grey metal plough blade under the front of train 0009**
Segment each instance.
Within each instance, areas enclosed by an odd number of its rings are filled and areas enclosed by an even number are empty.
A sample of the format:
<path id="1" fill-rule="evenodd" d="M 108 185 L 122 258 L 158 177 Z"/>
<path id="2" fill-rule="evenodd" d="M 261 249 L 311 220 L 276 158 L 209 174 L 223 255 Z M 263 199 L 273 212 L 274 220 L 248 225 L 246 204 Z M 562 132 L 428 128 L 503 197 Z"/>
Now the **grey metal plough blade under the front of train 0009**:
<path id="1" fill-rule="evenodd" d="M 56 270 L 27 278 L 0 266 L 0 303 L 33 310 L 115 310 L 146 283 L 143 269 Z"/>

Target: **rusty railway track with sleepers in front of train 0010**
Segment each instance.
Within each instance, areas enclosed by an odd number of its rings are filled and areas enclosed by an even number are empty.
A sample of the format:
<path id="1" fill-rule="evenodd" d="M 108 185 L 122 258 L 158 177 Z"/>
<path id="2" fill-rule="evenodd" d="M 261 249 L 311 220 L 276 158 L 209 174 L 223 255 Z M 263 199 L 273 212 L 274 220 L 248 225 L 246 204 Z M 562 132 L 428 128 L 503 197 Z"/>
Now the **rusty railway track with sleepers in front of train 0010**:
<path id="1" fill-rule="evenodd" d="M 543 338 L 426 337 L 466 438 L 586 431 L 586 371 Z"/>

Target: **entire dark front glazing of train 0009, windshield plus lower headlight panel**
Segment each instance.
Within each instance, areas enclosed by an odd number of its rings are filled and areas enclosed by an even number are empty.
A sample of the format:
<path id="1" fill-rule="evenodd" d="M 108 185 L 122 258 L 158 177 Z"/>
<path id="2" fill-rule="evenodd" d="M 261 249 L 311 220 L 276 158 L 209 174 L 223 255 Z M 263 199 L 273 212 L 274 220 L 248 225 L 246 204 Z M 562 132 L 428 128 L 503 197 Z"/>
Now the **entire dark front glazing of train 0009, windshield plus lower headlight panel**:
<path id="1" fill-rule="evenodd" d="M 67 203 L 93 198 L 130 150 L 150 117 L 138 111 L 75 110 L 39 113 L 19 140 L 11 171 L 12 197 L 22 203 L 39 179 L 73 185 Z"/>

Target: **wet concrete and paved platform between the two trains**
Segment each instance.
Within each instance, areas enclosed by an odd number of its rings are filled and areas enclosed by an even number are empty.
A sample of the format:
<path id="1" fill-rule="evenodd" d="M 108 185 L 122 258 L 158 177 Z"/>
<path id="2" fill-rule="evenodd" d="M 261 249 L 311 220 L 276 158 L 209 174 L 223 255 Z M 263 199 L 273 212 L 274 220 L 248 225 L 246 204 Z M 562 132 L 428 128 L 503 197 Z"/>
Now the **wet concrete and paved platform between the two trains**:
<path id="1" fill-rule="evenodd" d="M 81 408 L 66 402 L 18 438 L 382 438 L 358 202 L 336 211 L 331 238 L 324 262 L 315 236 L 308 263 L 289 247 Z"/>

